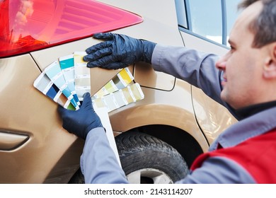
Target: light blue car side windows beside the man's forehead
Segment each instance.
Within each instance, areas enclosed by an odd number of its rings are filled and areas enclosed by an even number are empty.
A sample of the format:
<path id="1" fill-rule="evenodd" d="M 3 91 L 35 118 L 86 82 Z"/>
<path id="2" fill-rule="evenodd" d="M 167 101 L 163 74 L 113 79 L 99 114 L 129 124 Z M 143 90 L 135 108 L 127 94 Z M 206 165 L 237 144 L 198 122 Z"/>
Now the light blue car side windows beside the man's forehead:
<path id="1" fill-rule="evenodd" d="M 180 30 L 228 45 L 229 33 L 236 17 L 240 0 L 176 0 Z"/>

